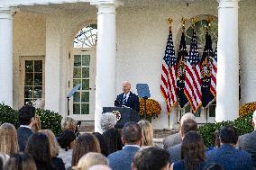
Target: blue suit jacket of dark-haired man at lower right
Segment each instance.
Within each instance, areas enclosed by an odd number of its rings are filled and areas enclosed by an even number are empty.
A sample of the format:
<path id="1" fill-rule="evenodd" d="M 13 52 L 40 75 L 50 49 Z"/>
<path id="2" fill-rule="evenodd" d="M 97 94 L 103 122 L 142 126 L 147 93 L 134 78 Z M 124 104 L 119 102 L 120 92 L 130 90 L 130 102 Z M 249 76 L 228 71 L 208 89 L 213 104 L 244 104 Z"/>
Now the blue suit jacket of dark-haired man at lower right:
<path id="1" fill-rule="evenodd" d="M 245 151 L 224 144 L 206 152 L 208 163 L 218 163 L 224 170 L 251 170 L 251 155 Z"/>

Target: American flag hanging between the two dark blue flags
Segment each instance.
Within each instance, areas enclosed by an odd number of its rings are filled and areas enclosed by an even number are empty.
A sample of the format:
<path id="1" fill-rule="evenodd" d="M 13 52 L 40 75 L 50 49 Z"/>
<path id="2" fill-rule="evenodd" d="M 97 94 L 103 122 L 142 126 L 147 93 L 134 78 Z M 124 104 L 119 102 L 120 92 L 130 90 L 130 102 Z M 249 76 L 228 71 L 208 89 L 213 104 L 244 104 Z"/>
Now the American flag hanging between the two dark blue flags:
<path id="1" fill-rule="evenodd" d="M 197 33 L 195 30 L 193 30 L 185 71 L 184 93 L 187 95 L 187 100 L 189 101 L 193 112 L 196 113 L 198 107 L 202 104 L 202 92 L 200 58 L 197 50 Z"/>

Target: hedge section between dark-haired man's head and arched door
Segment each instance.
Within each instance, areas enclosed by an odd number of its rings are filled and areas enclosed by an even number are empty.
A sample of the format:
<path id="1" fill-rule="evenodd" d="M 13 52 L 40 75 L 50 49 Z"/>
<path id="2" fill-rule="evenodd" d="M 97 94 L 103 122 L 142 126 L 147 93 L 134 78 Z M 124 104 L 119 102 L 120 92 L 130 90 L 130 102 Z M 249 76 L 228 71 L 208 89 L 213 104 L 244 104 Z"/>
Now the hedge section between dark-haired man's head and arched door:
<path id="1" fill-rule="evenodd" d="M 40 117 L 42 130 L 51 130 L 55 136 L 59 136 L 61 132 L 61 115 L 59 115 L 57 112 L 43 109 L 37 109 L 36 114 Z"/>

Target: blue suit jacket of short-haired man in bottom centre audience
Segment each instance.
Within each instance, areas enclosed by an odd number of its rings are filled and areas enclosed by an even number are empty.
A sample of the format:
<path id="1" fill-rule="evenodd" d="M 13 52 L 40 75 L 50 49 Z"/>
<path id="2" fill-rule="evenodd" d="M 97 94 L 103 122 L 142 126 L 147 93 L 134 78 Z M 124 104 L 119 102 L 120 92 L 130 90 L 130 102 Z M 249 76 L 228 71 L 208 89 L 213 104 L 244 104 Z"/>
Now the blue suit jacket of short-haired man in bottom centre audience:
<path id="1" fill-rule="evenodd" d="M 108 155 L 109 166 L 113 170 L 131 170 L 133 156 L 140 148 L 127 146 L 123 150 L 118 150 Z"/>

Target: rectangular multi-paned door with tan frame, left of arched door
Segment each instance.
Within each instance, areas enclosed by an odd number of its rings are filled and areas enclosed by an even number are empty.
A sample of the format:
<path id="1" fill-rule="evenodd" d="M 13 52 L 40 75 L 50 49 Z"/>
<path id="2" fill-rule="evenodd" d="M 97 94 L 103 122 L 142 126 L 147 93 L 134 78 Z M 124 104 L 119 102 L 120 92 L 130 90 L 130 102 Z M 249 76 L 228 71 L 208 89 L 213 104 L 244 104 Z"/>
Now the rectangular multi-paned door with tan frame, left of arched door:
<path id="1" fill-rule="evenodd" d="M 19 107 L 44 99 L 44 56 L 20 57 Z"/>

